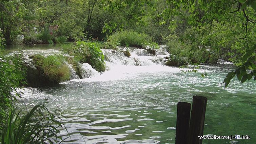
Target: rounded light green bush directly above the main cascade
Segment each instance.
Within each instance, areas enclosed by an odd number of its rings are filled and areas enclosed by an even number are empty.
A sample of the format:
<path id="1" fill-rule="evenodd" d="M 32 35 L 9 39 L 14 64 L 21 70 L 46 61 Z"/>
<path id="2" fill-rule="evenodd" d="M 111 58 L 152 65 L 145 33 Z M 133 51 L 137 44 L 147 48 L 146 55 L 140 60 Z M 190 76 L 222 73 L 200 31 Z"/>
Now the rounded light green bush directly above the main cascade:
<path id="1" fill-rule="evenodd" d="M 145 47 L 147 45 L 157 48 L 157 44 L 152 41 L 152 38 L 143 33 L 137 33 L 133 30 L 123 30 L 116 32 L 107 38 L 107 43 L 109 45 L 116 46 L 135 46 L 135 47 Z"/>

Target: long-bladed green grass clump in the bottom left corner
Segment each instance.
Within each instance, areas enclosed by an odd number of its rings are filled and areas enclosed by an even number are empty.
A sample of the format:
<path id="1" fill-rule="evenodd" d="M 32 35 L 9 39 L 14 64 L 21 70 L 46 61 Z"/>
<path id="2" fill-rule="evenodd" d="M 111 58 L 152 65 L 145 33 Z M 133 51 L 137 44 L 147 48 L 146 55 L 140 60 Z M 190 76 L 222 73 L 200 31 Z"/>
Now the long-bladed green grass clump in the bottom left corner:
<path id="1" fill-rule="evenodd" d="M 1 143 L 56 143 L 57 139 L 61 140 L 57 136 L 62 127 L 60 120 L 58 111 L 51 113 L 44 104 L 36 105 L 26 114 L 11 109 L 2 128 Z"/>

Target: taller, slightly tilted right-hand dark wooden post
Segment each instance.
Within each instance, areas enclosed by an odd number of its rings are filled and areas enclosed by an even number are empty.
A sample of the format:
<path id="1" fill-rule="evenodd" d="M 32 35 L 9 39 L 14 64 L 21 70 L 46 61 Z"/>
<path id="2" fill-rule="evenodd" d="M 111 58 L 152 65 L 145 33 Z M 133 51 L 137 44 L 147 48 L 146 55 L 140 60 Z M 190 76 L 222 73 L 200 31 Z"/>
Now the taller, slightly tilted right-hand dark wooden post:
<path id="1" fill-rule="evenodd" d="M 191 110 L 190 127 L 189 127 L 189 144 L 202 144 L 203 126 L 206 111 L 207 98 L 194 96 Z"/>

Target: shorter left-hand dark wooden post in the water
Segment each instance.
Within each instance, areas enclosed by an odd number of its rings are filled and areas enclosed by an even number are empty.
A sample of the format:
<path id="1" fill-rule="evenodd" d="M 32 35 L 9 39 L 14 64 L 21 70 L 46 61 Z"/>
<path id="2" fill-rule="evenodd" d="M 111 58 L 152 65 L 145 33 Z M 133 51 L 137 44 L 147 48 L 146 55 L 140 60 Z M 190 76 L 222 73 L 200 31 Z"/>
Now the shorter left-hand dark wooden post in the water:
<path id="1" fill-rule="evenodd" d="M 175 144 L 187 144 L 188 142 L 190 108 L 190 103 L 178 103 Z"/>

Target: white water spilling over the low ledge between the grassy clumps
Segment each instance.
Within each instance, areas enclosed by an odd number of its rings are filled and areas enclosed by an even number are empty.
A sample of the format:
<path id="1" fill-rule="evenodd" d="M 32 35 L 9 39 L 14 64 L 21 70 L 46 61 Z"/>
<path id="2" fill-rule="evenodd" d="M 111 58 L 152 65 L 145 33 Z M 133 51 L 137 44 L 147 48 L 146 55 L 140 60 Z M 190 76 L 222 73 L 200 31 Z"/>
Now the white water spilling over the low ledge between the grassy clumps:
<path id="1" fill-rule="evenodd" d="M 165 46 L 160 46 L 160 49 L 156 50 L 157 56 L 150 54 L 146 49 L 139 49 L 134 47 L 129 47 L 131 57 L 127 57 L 124 55 L 123 50 L 125 47 L 119 47 L 119 51 L 114 51 L 112 49 L 102 49 L 102 52 L 105 56 L 106 70 L 110 70 L 117 66 L 149 66 L 149 65 L 161 65 L 163 64 L 166 57 L 169 57 L 168 52 L 166 52 Z M 40 54 L 43 56 L 49 55 L 64 55 L 67 57 L 71 57 L 67 54 L 62 53 L 57 49 L 47 49 L 47 50 L 24 50 L 23 51 L 24 62 L 32 69 L 36 69 L 35 65 L 32 62 L 31 56 L 35 54 Z M 70 79 L 79 79 L 76 71 L 72 67 L 71 64 L 65 62 L 65 64 L 70 68 L 71 76 Z M 98 71 L 96 71 L 90 64 L 88 63 L 78 63 L 79 73 L 81 78 L 92 78 L 100 75 Z"/>

